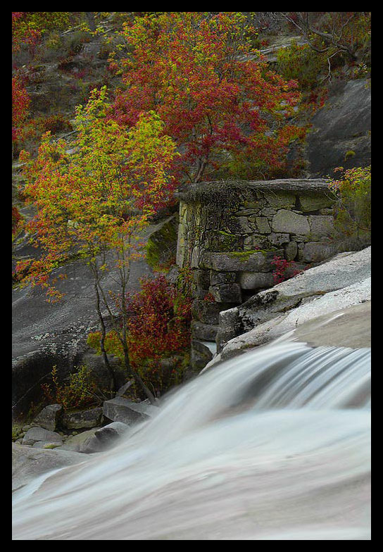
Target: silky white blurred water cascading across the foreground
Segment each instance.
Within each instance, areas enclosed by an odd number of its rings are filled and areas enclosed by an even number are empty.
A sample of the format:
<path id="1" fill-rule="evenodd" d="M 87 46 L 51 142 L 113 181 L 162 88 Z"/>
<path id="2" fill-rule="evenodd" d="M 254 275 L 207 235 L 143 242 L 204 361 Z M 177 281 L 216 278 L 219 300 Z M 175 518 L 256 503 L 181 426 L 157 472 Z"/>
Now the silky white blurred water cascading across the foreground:
<path id="1" fill-rule="evenodd" d="M 15 493 L 15 540 L 370 540 L 370 349 L 206 371 L 118 446 Z"/>

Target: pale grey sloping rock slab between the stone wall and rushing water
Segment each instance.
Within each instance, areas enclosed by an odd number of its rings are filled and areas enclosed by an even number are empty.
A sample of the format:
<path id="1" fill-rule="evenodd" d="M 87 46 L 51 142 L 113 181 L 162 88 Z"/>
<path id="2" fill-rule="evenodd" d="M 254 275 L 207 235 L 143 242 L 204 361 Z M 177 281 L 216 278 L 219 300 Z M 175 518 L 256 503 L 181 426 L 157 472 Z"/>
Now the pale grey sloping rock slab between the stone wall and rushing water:
<path id="1" fill-rule="evenodd" d="M 220 313 L 217 337 L 220 354 L 207 367 L 294 330 L 297 339 L 315 344 L 315 332 L 308 322 L 315 319 L 320 325 L 318 317 L 332 314 L 341 317 L 356 306 L 360 309 L 357 319 L 359 322 L 361 317 L 364 320 L 363 325 L 360 324 L 360 332 L 343 331 L 341 337 L 341 332 L 334 331 L 333 341 L 327 332 L 325 341 L 342 346 L 369 346 L 370 261 L 370 247 L 356 253 L 340 253 L 270 290 L 261 291 L 241 306 Z M 346 318 L 341 318 L 340 324 L 342 320 Z"/>

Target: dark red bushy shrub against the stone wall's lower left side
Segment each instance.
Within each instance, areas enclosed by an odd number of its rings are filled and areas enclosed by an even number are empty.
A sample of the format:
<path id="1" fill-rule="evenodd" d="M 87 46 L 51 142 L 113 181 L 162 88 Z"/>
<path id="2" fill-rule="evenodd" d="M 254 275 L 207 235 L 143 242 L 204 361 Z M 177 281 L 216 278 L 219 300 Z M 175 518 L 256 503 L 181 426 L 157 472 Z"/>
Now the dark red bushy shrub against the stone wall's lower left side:
<path id="1" fill-rule="evenodd" d="M 129 313 L 127 342 L 130 361 L 146 385 L 161 394 L 182 379 L 190 344 L 192 318 L 191 279 L 181 272 L 177 286 L 164 275 L 142 279 L 141 290 L 125 297 Z M 123 304 L 117 300 L 120 310 Z M 89 334 L 88 345 L 99 353 L 101 332 Z M 114 331 L 105 340 L 107 353 L 123 358 L 123 349 Z M 164 359 L 175 357 L 172 362 Z"/>

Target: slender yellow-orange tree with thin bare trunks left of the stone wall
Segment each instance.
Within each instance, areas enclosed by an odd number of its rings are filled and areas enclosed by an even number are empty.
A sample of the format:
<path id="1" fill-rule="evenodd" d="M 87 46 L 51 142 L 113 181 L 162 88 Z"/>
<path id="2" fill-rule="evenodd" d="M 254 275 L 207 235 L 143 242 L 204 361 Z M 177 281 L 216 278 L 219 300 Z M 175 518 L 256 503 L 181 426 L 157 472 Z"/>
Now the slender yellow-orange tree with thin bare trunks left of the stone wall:
<path id="1" fill-rule="evenodd" d="M 37 207 L 37 216 L 27 230 L 36 235 L 44 255 L 20 262 L 18 271 L 27 271 L 25 284 L 42 285 L 55 301 L 61 294 L 51 278 L 54 269 L 70 259 L 87 263 L 93 276 L 106 367 L 105 309 L 123 348 L 127 373 L 154 401 L 130 364 L 125 302 L 116 316 L 103 282 L 106 272 L 113 270 L 120 296 L 127 294 L 131 263 L 142 255 L 139 234 L 172 194 L 168 170 L 175 146 L 163 135 L 163 123 L 156 113 L 142 113 L 127 130 L 106 118 L 107 109 L 106 87 L 94 90 L 87 105 L 77 108 L 77 138 L 71 144 L 75 150 L 71 156 L 66 153 L 66 142 L 51 141 L 49 132 L 44 134 L 36 159 L 25 151 L 20 153 L 26 163 L 25 193 Z"/>

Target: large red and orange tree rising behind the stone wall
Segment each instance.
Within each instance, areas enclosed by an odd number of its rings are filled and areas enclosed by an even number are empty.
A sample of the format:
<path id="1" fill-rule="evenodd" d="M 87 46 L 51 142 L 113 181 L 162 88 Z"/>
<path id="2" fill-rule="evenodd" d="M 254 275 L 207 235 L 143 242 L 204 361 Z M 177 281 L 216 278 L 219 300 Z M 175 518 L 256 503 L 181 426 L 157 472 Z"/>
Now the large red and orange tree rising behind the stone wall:
<path id="1" fill-rule="evenodd" d="M 268 68 L 246 22 L 237 12 L 165 12 L 124 25 L 130 54 L 111 63 L 124 85 L 113 118 L 130 126 L 143 111 L 156 111 L 181 153 L 180 182 L 267 177 L 302 135 L 289 124 L 296 82 Z"/>

